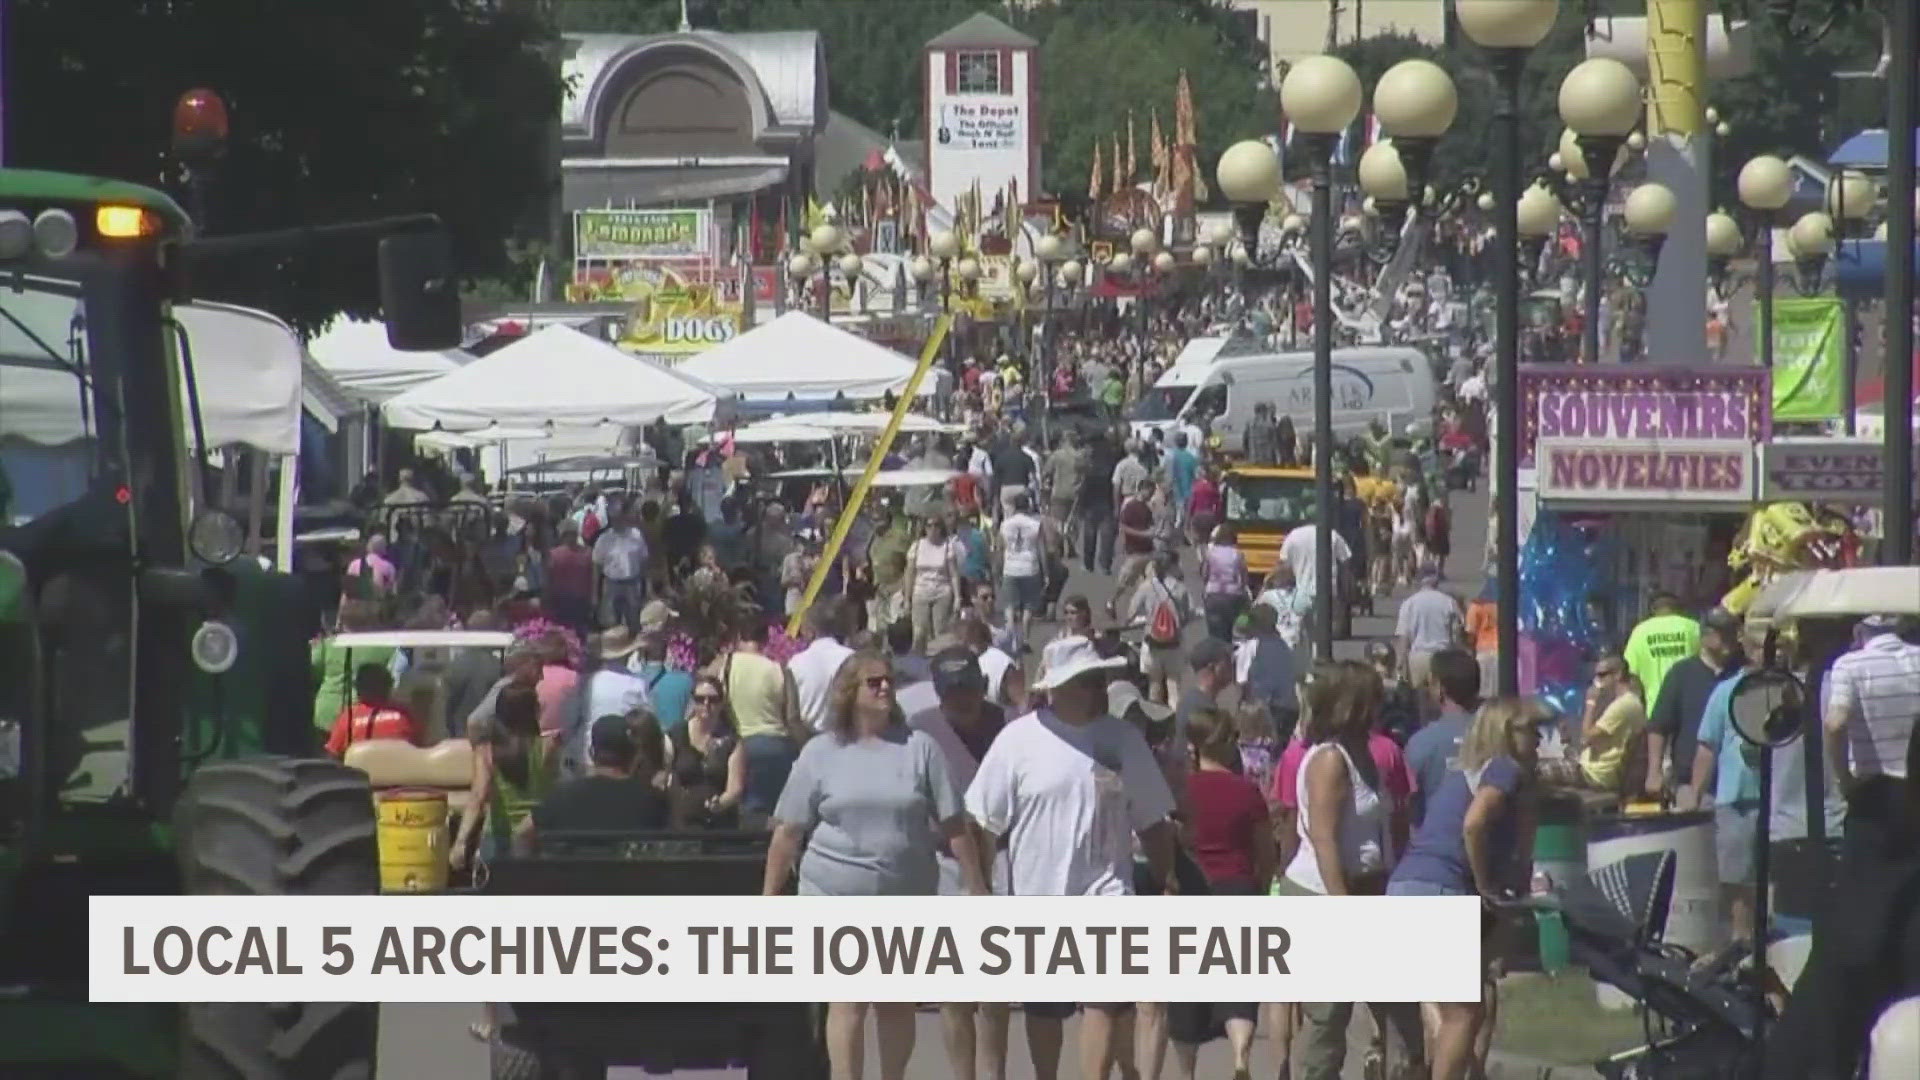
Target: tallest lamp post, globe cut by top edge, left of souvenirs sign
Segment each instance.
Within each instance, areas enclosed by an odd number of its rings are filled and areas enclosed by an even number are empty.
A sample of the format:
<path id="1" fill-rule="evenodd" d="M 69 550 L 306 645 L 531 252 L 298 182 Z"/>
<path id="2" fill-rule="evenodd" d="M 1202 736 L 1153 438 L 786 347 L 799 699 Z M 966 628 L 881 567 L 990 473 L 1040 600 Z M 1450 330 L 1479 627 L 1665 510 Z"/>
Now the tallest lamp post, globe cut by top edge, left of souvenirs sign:
<path id="1" fill-rule="evenodd" d="M 1548 37 L 1559 0 L 1455 0 L 1461 31 L 1494 67 L 1494 584 L 1500 694 L 1521 692 L 1521 73 Z M 1548 198 L 1553 198 L 1551 194 Z M 1555 209 L 1553 219 L 1559 219 Z M 1551 229 L 1551 227 L 1549 227 Z"/>

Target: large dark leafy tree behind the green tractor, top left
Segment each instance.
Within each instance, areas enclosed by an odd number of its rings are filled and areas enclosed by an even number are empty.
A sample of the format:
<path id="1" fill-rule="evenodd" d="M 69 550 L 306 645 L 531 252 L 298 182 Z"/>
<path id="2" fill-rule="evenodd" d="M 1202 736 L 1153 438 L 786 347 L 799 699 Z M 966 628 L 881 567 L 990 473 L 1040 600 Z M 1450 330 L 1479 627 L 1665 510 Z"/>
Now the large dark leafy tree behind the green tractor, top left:
<path id="1" fill-rule="evenodd" d="M 484 0 L 71 0 L 8 12 L 8 163 L 157 184 L 175 100 L 232 115 L 207 188 L 213 233 L 438 213 L 468 279 L 515 273 L 540 233 L 561 79 L 530 4 Z M 301 331 L 378 311 L 371 244 L 207 267 L 202 296 Z"/>

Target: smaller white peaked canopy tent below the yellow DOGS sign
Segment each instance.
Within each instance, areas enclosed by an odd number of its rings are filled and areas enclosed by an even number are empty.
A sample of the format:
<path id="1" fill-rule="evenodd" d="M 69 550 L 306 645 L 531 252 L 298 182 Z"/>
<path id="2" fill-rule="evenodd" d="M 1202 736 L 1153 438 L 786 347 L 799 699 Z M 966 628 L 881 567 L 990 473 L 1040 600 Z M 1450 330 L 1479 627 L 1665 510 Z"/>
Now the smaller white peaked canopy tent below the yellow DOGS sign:
<path id="1" fill-rule="evenodd" d="M 755 327 L 745 334 L 687 357 L 676 371 L 747 400 L 778 402 L 824 400 L 845 394 L 852 400 L 902 394 L 916 363 L 860 334 L 829 327 L 804 311 Z M 939 379 L 922 380 L 920 394 L 939 390 Z"/>

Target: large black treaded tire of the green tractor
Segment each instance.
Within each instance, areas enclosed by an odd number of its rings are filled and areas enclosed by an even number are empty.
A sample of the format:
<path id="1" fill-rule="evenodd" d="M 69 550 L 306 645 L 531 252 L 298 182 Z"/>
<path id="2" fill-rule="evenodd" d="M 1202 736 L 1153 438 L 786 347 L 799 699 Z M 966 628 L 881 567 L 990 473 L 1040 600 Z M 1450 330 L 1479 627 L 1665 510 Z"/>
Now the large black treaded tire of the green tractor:
<path id="1" fill-rule="evenodd" d="M 367 774 L 336 761 L 204 765 L 175 807 L 188 896 L 372 896 L 380 846 Z M 380 1005 L 182 1005 L 182 1080 L 372 1080 Z"/>

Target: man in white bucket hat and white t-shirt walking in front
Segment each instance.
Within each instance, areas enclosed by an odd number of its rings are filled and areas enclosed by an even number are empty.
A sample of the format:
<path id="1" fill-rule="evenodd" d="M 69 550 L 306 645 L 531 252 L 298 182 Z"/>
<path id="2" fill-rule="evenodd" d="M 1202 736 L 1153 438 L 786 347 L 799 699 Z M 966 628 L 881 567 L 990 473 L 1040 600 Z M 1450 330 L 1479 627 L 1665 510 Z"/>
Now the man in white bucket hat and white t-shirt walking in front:
<path id="1" fill-rule="evenodd" d="M 985 832 L 983 851 L 1006 840 L 1010 896 L 1133 896 L 1133 838 L 1148 876 L 1173 884 L 1175 809 L 1154 751 L 1133 724 L 1106 711 L 1110 669 L 1087 638 L 1046 646 L 1050 705 L 1010 723 L 987 748 L 966 792 L 966 809 Z M 1081 1074 L 1108 1076 L 1125 1053 L 1117 1020 L 1133 1005 L 1081 1005 Z M 1060 1068 L 1062 1024 L 1071 1003 L 1025 1007 L 1027 1051 L 1039 1076 Z"/>

